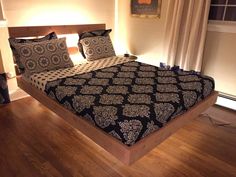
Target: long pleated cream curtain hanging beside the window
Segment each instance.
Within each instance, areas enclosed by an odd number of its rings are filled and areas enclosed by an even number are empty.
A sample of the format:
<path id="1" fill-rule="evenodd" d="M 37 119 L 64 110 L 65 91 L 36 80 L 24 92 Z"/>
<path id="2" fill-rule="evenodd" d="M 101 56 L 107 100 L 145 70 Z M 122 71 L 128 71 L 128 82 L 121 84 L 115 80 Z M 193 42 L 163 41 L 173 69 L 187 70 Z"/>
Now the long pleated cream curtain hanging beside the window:
<path id="1" fill-rule="evenodd" d="M 165 58 L 170 66 L 201 71 L 210 0 L 169 0 Z"/>

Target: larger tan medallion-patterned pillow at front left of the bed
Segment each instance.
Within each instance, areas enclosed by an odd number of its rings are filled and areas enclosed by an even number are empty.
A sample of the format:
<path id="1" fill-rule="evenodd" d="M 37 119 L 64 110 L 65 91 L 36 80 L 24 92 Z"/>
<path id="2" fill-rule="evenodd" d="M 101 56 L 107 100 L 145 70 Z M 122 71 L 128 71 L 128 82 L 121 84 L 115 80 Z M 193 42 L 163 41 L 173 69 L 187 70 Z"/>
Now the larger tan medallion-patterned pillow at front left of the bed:
<path id="1" fill-rule="evenodd" d="M 73 67 L 66 46 L 66 38 L 42 42 L 14 44 L 25 75 L 60 68 Z"/>

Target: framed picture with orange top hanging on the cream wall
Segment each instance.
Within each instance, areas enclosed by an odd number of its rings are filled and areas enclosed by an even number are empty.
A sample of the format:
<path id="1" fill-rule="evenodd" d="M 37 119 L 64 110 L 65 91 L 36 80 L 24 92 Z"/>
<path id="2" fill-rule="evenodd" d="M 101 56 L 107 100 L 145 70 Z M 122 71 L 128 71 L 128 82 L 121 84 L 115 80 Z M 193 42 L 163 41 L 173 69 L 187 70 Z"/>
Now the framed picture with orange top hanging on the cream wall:
<path id="1" fill-rule="evenodd" d="M 161 0 L 131 0 L 131 15 L 136 17 L 160 17 Z"/>

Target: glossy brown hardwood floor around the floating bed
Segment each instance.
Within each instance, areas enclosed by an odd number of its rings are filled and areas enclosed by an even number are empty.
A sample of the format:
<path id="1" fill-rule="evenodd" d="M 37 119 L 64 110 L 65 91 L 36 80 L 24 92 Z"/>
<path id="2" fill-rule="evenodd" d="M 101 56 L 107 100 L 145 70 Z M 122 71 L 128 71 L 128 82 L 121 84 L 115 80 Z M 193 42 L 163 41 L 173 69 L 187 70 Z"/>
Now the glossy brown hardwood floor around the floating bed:
<path id="1" fill-rule="evenodd" d="M 197 118 L 125 166 L 28 97 L 0 107 L 0 176 L 236 177 L 236 129 Z"/>

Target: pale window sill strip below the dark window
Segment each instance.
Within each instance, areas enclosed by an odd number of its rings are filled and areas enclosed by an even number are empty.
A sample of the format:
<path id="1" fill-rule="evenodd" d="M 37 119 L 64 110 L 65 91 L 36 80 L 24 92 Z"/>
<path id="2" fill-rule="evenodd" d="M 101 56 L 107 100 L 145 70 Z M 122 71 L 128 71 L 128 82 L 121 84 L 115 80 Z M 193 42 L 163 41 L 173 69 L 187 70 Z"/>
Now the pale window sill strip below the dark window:
<path id="1" fill-rule="evenodd" d="M 209 20 L 207 31 L 221 32 L 221 33 L 236 33 L 236 22 Z"/>

